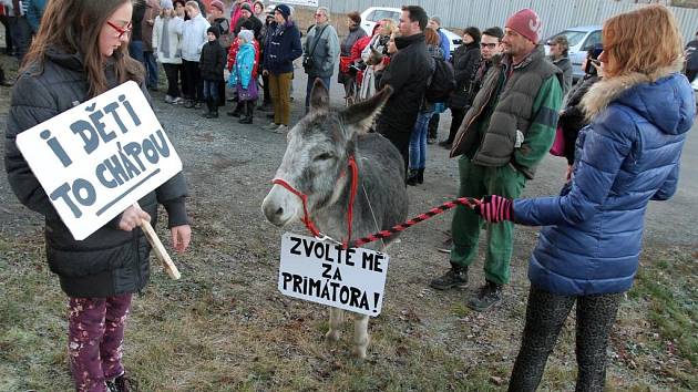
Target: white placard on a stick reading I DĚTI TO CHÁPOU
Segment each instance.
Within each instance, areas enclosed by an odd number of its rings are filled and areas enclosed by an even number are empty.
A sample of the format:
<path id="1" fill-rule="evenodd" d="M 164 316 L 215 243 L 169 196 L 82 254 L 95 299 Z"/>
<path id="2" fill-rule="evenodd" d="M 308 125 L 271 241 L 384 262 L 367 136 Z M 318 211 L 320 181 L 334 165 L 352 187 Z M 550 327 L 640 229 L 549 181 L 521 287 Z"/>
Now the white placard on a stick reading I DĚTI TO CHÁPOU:
<path id="1" fill-rule="evenodd" d="M 133 81 L 22 132 L 17 146 L 76 240 L 182 171 Z"/>

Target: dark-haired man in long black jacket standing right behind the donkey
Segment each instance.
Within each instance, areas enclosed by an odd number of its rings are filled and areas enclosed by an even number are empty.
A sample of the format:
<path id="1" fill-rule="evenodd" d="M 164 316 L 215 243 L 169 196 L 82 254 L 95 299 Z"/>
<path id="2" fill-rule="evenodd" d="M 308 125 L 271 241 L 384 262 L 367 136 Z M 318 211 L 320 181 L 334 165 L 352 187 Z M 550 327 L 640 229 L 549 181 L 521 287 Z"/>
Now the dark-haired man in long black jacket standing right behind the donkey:
<path id="1" fill-rule="evenodd" d="M 398 52 L 383 72 L 380 87 L 389 84 L 393 93 L 376 123 L 376 131 L 400 151 L 406 174 L 409 165 L 410 135 L 427 90 L 432 62 L 424 43 L 427 12 L 418 6 L 406 6 L 400 16 L 400 37 L 394 42 Z"/>

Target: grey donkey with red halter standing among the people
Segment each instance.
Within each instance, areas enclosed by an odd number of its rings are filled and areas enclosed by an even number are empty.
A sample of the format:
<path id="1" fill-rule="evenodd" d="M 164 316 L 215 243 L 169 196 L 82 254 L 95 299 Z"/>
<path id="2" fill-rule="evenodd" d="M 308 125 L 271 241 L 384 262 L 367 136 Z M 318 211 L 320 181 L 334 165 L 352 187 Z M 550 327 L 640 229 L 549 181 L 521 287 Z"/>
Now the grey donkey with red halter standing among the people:
<path id="1" fill-rule="evenodd" d="M 325 84 L 318 80 L 310 93 L 309 113 L 287 135 L 276 178 L 307 196 L 307 218 L 331 238 L 348 237 L 351 157 L 358 167 L 351 237 L 388 229 L 407 217 L 402 157 L 387 138 L 367 133 L 391 93 L 392 89 L 386 87 L 368 101 L 333 110 Z M 299 221 L 305 215 L 300 197 L 278 184 L 265 197 L 261 210 L 276 226 Z M 387 243 L 371 243 L 367 248 L 383 250 Z M 328 340 L 339 340 L 342 322 L 343 311 L 330 307 Z M 355 314 L 353 353 L 366 358 L 368 344 L 368 316 Z"/>

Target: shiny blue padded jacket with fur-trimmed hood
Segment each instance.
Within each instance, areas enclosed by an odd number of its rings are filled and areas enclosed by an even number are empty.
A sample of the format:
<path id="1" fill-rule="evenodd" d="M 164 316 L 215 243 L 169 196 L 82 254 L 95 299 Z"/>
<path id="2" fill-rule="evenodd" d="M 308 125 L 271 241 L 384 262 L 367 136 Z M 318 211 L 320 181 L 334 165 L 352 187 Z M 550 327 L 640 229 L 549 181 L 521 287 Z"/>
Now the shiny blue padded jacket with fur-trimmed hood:
<path id="1" fill-rule="evenodd" d="M 604 80 L 583 105 L 573 179 L 557 197 L 514 202 L 514 220 L 545 226 L 528 279 L 565 296 L 623 292 L 633 286 L 649 200 L 666 200 L 678 182 L 694 92 L 675 66 Z"/>

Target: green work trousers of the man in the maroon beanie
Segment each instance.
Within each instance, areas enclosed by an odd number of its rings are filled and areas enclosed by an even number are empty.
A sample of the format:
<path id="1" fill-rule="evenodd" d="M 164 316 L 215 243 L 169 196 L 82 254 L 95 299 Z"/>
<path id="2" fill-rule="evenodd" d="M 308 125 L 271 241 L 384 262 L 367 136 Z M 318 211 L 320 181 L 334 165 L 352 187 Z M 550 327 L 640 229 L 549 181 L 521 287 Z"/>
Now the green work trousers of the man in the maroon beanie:
<path id="1" fill-rule="evenodd" d="M 512 165 L 489 167 L 473 164 L 462 155 L 458 161 L 461 177 L 459 197 L 482 198 L 486 195 L 500 195 L 516 198 L 526 185 L 526 177 Z M 510 280 L 510 261 L 514 243 L 514 223 L 485 223 L 472 209 L 459 205 L 453 214 L 451 233 L 451 265 L 465 268 L 473 264 L 478 256 L 478 241 L 482 225 L 487 229 L 487 255 L 485 256 L 485 278 L 492 282 L 504 285 Z"/>

